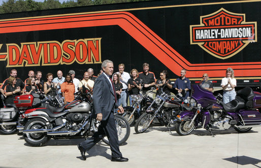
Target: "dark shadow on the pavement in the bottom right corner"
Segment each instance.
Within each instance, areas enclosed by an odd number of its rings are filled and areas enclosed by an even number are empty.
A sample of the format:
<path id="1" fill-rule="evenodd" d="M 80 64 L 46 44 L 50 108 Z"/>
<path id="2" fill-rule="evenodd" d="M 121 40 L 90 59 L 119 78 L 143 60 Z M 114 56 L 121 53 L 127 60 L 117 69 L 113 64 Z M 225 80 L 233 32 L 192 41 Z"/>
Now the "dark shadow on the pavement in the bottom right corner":
<path id="1" fill-rule="evenodd" d="M 256 159 L 256 158 L 252 158 L 252 157 L 248 157 L 248 156 L 235 156 L 235 157 L 230 157 L 230 158 L 224 158 L 223 160 L 227 160 L 227 161 L 231 161 L 240 165 L 247 165 L 247 164 L 251 164 L 254 165 L 256 167 L 260 167 L 258 164 L 261 162 L 261 160 Z"/>

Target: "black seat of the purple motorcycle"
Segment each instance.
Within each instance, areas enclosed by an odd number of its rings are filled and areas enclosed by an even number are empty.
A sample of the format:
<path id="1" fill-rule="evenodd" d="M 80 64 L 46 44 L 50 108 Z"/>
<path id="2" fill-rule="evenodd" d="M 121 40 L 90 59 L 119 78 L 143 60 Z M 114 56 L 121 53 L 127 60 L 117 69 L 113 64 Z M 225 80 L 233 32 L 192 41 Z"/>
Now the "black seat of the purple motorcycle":
<path id="1" fill-rule="evenodd" d="M 226 112 L 237 112 L 245 107 L 245 100 L 239 96 L 231 102 L 224 104 L 220 102 Z"/>

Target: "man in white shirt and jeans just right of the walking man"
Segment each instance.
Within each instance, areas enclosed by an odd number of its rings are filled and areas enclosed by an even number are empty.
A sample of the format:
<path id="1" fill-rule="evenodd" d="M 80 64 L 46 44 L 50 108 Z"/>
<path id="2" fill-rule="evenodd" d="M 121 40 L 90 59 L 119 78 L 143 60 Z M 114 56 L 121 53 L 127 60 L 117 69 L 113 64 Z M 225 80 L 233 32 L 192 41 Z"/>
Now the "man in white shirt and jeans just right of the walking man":
<path id="1" fill-rule="evenodd" d="M 123 63 L 120 63 L 118 65 L 118 69 L 119 69 L 119 76 L 120 76 L 120 82 L 122 83 L 122 92 L 120 94 L 121 98 L 119 99 L 119 105 L 122 104 L 122 107 L 126 107 L 127 106 L 127 102 L 128 102 L 128 80 L 129 78 L 131 78 L 131 76 L 129 76 L 128 73 L 124 72 L 125 69 L 125 65 Z"/>

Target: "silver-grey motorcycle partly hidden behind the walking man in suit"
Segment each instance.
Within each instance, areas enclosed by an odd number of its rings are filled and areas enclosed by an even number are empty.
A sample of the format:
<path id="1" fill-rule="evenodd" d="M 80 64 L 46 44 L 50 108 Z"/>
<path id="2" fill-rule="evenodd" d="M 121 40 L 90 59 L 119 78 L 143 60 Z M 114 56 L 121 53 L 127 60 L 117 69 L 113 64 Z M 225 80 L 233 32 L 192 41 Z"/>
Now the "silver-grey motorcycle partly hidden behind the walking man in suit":
<path id="1" fill-rule="evenodd" d="M 28 121 L 23 129 L 23 137 L 30 146 L 42 146 L 50 138 L 69 139 L 87 138 L 91 131 L 96 131 L 99 122 L 93 118 L 92 95 L 83 88 L 82 101 L 75 100 L 66 108 L 49 109 L 37 108 L 25 111 L 23 117 Z M 128 122 L 121 116 L 115 115 L 115 124 L 118 133 L 119 144 L 124 144 L 130 133 Z M 108 139 L 103 141 L 109 144 Z"/>

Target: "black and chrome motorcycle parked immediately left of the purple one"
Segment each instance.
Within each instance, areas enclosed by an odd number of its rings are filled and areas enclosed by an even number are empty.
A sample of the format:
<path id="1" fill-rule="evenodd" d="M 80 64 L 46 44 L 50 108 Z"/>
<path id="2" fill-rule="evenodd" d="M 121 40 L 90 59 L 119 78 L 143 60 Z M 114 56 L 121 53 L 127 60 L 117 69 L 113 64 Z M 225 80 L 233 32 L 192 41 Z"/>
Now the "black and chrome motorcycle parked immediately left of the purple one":
<path id="1" fill-rule="evenodd" d="M 170 99 L 170 97 L 173 98 Z M 143 113 L 137 120 L 135 124 L 135 132 L 142 133 L 147 130 L 155 118 L 159 121 L 160 125 L 165 125 L 168 128 L 169 125 L 174 125 L 175 123 L 173 120 L 176 115 L 185 108 L 185 106 L 182 105 L 182 102 L 183 100 L 178 96 L 168 95 L 163 92 L 161 88 L 161 94 L 155 97 L 152 104 L 146 110 L 146 113 Z"/>

